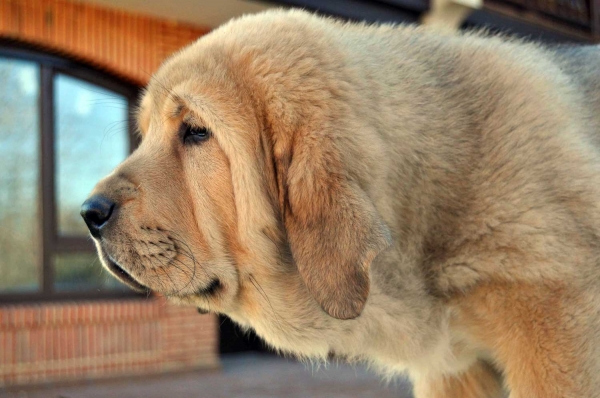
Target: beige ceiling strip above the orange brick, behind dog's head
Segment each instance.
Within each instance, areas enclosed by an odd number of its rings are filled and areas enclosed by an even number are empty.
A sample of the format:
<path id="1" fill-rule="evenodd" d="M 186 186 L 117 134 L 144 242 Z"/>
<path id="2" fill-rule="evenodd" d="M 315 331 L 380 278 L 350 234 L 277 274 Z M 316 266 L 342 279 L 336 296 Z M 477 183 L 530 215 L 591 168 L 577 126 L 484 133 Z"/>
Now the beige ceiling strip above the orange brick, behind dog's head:
<path id="1" fill-rule="evenodd" d="M 243 14 L 260 12 L 272 5 L 245 0 L 80 0 L 111 8 L 214 28 Z"/>

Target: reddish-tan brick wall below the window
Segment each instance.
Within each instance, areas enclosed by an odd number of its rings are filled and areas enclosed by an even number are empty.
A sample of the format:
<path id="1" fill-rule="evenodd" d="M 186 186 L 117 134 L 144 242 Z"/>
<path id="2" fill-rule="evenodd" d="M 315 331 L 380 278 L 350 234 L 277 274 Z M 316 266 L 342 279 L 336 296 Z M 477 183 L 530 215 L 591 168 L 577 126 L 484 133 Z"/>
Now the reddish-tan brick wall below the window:
<path id="1" fill-rule="evenodd" d="M 216 317 L 161 298 L 0 307 L 0 386 L 218 366 Z"/>

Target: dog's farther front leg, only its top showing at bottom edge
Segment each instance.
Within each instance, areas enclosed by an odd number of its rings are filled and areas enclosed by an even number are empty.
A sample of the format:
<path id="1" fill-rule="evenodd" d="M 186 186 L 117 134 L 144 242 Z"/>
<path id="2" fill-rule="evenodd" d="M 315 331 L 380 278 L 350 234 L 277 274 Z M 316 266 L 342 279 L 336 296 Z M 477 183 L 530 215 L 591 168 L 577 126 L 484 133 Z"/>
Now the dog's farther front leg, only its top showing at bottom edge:
<path id="1" fill-rule="evenodd" d="M 415 398 L 502 398 L 499 375 L 485 362 L 476 362 L 457 375 L 417 379 Z"/>

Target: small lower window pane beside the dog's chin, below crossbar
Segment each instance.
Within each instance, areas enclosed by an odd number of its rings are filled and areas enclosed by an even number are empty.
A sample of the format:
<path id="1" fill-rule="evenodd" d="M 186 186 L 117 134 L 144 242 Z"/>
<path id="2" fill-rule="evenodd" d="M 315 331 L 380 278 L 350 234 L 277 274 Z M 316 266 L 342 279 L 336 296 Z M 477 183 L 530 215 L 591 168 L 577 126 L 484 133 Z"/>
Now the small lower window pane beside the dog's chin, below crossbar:
<path id="1" fill-rule="evenodd" d="M 96 253 L 58 254 L 54 267 L 57 292 L 129 290 L 100 265 Z"/>

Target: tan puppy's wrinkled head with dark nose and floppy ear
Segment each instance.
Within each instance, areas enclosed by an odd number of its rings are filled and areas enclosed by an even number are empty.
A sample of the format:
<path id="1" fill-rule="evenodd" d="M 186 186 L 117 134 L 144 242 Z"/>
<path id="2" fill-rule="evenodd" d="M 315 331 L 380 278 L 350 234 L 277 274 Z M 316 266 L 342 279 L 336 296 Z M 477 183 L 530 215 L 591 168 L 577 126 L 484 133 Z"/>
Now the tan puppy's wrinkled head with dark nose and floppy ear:
<path id="1" fill-rule="evenodd" d="M 152 78 L 141 145 L 82 207 L 117 278 L 237 319 L 361 313 L 389 244 L 368 193 L 380 143 L 317 21 L 238 20 Z"/>

